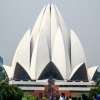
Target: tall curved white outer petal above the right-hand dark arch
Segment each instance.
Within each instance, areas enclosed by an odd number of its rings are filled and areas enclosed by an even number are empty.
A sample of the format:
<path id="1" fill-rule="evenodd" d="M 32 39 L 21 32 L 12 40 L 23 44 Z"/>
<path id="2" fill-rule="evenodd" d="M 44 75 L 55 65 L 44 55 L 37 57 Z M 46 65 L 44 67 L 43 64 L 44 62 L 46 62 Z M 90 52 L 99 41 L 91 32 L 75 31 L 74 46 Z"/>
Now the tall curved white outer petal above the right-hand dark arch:
<path id="1" fill-rule="evenodd" d="M 86 56 L 80 40 L 73 30 L 71 30 L 71 64 L 72 68 L 80 63 L 86 64 Z"/>

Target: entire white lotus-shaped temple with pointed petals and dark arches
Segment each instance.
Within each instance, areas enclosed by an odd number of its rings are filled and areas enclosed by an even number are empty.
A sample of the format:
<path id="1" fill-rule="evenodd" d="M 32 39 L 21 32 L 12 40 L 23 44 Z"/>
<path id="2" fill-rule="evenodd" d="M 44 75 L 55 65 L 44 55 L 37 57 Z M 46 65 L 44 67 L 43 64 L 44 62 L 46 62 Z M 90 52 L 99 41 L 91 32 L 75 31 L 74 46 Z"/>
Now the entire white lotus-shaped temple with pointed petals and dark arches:
<path id="1" fill-rule="evenodd" d="M 64 20 L 53 4 L 44 7 L 32 29 L 21 39 L 12 65 L 4 69 L 9 79 L 88 81 L 95 68 L 87 73 L 83 47 L 74 31 L 67 32 Z M 82 72 L 83 71 L 83 72 Z M 82 73 L 83 74 L 82 74 Z M 92 75 L 92 76 L 91 76 Z"/>

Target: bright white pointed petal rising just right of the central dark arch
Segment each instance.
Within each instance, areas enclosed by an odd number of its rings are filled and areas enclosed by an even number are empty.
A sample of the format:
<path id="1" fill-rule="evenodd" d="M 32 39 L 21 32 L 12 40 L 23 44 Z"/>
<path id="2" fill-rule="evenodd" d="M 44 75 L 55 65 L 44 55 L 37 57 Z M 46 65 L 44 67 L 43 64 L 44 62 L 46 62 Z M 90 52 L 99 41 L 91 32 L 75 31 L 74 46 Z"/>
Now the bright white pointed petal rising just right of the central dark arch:
<path id="1" fill-rule="evenodd" d="M 70 66 L 66 66 L 65 46 L 61 33 L 58 28 L 52 52 L 52 62 L 56 65 L 63 77 L 68 79 L 70 73 Z"/>

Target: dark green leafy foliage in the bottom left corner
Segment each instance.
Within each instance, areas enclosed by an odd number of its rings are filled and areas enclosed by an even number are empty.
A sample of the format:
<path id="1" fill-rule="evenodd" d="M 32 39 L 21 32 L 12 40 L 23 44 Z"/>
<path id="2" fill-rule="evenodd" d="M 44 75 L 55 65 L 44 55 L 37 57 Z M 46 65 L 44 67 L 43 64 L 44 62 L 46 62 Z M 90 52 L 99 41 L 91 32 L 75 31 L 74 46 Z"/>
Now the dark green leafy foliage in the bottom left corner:
<path id="1" fill-rule="evenodd" d="M 0 82 L 0 100 L 21 100 L 22 90 L 15 85 L 9 85 L 7 82 Z"/>

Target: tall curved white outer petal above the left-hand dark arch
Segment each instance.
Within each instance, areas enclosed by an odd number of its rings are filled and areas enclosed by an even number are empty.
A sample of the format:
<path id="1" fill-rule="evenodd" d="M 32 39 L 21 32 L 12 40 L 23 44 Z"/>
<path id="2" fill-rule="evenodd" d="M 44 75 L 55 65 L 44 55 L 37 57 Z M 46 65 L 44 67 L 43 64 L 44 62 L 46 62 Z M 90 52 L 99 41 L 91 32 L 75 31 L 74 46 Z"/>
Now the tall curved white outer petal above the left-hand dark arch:
<path id="1" fill-rule="evenodd" d="M 16 49 L 11 66 L 13 69 L 13 75 L 17 63 L 28 71 L 30 65 L 30 30 L 25 33 Z"/>

